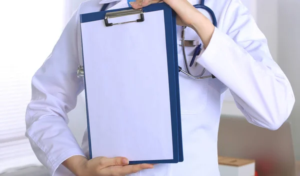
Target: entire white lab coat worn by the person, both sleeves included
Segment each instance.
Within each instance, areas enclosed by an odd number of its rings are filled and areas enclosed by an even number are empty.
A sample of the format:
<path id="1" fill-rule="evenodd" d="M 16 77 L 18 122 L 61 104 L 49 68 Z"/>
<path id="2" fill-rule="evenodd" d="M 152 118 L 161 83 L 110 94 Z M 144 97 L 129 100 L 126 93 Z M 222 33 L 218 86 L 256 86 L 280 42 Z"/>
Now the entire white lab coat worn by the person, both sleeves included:
<path id="1" fill-rule="evenodd" d="M 82 3 L 32 78 L 26 136 L 52 176 L 72 176 L 61 163 L 74 155 L 88 157 L 86 132 L 80 147 L 67 126 L 67 113 L 76 106 L 77 95 L 84 89 L 83 80 L 76 77 L 77 67 L 82 65 L 78 16 L 99 11 L 103 3 L 111 1 L 115 0 Z M 199 0 L 189 2 L 196 4 Z M 114 7 L 126 4 L 122 0 Z M 227 88 L 251 124 L 276 130 L 290 115 L 295 101 L 292 88 L 272 60 L 266 38 L 249 11 L 239 0 L 206 0 L 205 4 L 214 11 L 218 26 L 208 47 L 197 57 L 199 65 L 193 73 L 205 67 L 205 75 L 213 74 L 217 79 L 192 80 L 179 74 L 184 162 L 157 165 L 133 176 L 218 176 L 217 132 Z M 179 40 L 181 27 L 177 29 Z M 185 39 L 199 37 L 188 28 Z M 186 47 L 189 60 L 192 49 Z M 178 59 L 184 68 L 179 45 Z"/>

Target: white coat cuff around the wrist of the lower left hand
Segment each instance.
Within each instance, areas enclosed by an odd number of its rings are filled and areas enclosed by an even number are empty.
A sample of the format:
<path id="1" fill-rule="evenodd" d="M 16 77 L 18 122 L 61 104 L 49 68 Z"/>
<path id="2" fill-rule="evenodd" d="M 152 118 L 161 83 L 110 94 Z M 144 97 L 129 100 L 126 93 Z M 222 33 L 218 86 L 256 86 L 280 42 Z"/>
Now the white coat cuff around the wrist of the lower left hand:
<path id="1" fill-rule="evenodd" d="M 54 162 L 52 162 L 51 176 L 68 176 L 70 171 L 62 165 L 62 162 L 73 156 L 86 157 L 83 154 L 83 151 L 77 148 L 64 152 Z"/>

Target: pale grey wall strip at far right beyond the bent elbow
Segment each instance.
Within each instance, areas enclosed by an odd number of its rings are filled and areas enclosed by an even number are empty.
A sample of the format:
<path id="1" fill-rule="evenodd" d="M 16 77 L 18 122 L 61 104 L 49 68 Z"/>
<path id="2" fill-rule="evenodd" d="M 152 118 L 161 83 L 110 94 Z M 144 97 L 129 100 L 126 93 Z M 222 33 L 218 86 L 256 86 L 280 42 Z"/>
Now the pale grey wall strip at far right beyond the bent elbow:
<path id="1" fill-rule="evenodd" d="M 278 6 L 278 60 L 295 94 L 295 106 L 288 121 L 292 125 L 296 159 L 300 160 L 300 0 L 279 0 Z"/>

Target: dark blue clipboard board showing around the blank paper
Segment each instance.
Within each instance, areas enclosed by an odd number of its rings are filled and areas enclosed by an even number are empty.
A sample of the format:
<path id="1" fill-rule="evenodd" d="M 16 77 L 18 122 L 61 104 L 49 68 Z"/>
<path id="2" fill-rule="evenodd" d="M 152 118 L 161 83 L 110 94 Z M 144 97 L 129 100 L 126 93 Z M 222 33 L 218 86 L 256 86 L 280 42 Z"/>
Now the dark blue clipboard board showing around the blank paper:
<path id="1" fill-rule="evenodd" d="M 106 11 L 98 11 L 92 13 L 80 14 L 80 24 L 92 21 L 103 20 L 105 26 L 109 27 L 113 25 L 109 22 L 107 14 L 111 12 L 122 12 L 133 10 L 133 8 L 121 8 Z M 173 159 L 171 160 L 140 160 L 130 161 L 129 164 L 161 164 L 161 163 L 178 163 L 183 162 L 183 145 L 182 145 L 182 133 L 181 133 L 181 112 L 180 112 L 180 94 L 179 94 L 179 67 L 177 59 L 177 38 L 176 38 L 176 13 L 166 3 L 156 3 L 149 6 L 143 7 L 143 13 L 163 10 L 164 24 L 165 24 L 165 42 L 166 42 L 166 55 L 167 55 L 167 72 L 168 72 L 168 84 L 169 84 L 169 95 L 170 95 L 170 114 L 171 114 L 171 133 L 172 133 L 172 147 L 173 147 Z M 146 18 L 143 17 L 143 13 L 140 14 L 140 18 L 136 22 L 143 22 Z M 82 28 L 81 28 L 82 37 Z M 85 70 L 85 57 L 84 57 L 84 46 L 82 43 L 82 55 L 83 55 L 83 71 Z M 93 158 L 93 147 L 91 144 L 91 127 L 89 115 L 89 91 L 86 89 L 86 85 L 89 84 L 86 81 L 86 75 L 84 74 L 84 85 L 85 85 L 85 100 L 86 100 L 86 113 L 87 113 L 87 132 L 89 141 L 89 158 Z M 100 137 L 99 137 L 100 140 Z"/>

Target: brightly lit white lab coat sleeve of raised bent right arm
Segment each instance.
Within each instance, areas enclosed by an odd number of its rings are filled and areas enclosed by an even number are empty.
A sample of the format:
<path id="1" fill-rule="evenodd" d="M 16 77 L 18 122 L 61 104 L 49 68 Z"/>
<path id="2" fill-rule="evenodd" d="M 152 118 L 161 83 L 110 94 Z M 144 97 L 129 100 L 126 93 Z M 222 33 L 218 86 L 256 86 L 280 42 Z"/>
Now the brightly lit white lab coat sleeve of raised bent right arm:
<path id="1" fill-rule="evenodd" d="M 228 87 L 249 123 L 277 130 L 289 117 L 295 102 L 291 85 L 240 0 L 230 1 L 197 62 Z"/>

